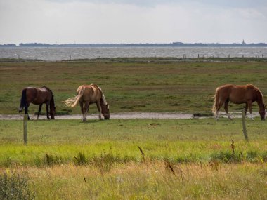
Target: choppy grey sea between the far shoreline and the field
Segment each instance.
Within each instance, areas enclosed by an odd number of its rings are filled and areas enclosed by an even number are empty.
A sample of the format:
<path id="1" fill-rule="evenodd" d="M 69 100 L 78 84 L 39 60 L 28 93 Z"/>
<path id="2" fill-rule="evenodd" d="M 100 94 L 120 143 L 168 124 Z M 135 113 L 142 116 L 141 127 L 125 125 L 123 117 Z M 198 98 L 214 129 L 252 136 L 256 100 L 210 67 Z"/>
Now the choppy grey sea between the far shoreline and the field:
<path id="1" fill-rule="evenodd" d="M 266 47 L 8 47 L 0 48 L 0 58 L 60 61 L 92 58 L 267 58 Z"/>

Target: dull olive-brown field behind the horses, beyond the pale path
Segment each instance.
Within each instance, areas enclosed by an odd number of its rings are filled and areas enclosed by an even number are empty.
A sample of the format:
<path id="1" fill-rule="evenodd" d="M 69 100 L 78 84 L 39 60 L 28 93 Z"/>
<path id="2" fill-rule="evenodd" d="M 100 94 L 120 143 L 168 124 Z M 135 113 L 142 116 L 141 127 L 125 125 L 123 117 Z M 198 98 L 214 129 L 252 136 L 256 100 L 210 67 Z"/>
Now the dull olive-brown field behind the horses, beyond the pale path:
<path id="1" fill-rule="evenodd" d="M 58 114 L 80 113 L 62 101 L 74 96 L 78 86 L 91 83 L 103 89 L 111 112 L 210 112 L 211 98 L 222 84 L 251 83 L 265 98 L 267 94 L 267 62 L 0 62 L 0 74 L 1 114 L 18 113 L 26 86 L 51 88 Z M 96 112 L 96 106 L 91 107 Z M 230 112 L 241 107 L 230 104 Z M 37 110 L 31 105 L 30 113 Z"/>

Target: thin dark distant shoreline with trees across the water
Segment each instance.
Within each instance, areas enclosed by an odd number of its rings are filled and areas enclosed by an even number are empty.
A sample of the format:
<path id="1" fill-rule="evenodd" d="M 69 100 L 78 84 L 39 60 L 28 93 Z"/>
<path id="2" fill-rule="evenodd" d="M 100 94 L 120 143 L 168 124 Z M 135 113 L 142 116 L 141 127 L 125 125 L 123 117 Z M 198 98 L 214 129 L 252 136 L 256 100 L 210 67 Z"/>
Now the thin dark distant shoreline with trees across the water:
<path id="1" fill-rule="evenodd" d="M 20 43 L 16 44 L 0 44 L 0 48 L 20 48 L 20 47 L 266 47 L 266 43 L 257 44 L 246 44 L 243 43 L 233 43 L 233 44 L 219 44 L 219 43 L 162 43 L 162 44 L 150 44 L 150 43 L 140 43 L 140 44 L 43 44 L 43 43 Z"/>

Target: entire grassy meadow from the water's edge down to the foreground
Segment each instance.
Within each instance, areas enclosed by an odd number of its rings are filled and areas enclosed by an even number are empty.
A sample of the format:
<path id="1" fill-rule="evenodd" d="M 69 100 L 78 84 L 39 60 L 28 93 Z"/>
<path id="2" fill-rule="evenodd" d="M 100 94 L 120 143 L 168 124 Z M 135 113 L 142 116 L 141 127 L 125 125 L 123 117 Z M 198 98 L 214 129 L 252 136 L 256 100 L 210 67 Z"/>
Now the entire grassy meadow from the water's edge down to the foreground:
<path id="1" fill-rule="evenodd" d="M 115 112 L 210 112 L 216 86 L 228 83 L 254 84 L 266 99 L 267 62 L 5 60 L 0 72 L 0 114 L 18 114 L 22 88 L 44 85 L 57 114 L 79 114 L 62 101 L 91 83 L 111 109 L 108 121 L 28 121 L 28 145 L 21 120 L 0 120 L 0 199 L 267 198 L 267 125 L 259 117 L 246 121 L 249 142 L 241 119 L 112 119 Z"/>

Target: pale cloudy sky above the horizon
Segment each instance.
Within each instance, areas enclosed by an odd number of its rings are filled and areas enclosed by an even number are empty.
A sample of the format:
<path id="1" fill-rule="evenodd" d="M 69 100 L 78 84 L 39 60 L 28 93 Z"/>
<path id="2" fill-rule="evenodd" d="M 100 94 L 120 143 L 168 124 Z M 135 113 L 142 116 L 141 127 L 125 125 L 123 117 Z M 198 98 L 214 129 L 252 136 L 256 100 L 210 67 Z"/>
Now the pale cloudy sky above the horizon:
<path id="1" fill-rule="evenodd" d="M 267 43 L 266 0 L 0 0 L 0 44 Z"/>

